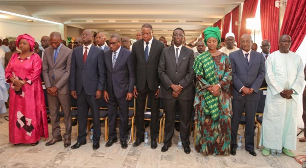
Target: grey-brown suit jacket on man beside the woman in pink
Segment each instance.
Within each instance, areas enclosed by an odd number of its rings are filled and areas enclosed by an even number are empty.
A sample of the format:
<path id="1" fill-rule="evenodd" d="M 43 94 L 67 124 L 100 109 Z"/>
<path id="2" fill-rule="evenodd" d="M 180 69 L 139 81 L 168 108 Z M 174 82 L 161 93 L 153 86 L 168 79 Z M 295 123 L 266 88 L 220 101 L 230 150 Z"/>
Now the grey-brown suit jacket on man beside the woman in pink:
<path id="1" fill-rule="evenodd" d="M 44 50 L 42 60 L 42 76 L 45 88 L 54 87 L 53 76 L 55 76 L 55 87 L 59 94 L 69 93 L 69 75 L 72 50 L 64 45 L 61 46 L 57 59 L 54 63 L 54 49 L 48 47 Z"/>

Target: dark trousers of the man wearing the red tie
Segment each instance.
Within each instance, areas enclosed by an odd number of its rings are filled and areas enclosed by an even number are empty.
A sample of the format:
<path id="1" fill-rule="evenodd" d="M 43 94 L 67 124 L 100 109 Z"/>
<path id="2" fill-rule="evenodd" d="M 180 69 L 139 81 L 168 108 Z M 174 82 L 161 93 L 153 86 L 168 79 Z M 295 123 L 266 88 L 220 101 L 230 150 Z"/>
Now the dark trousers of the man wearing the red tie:
<path id="1" fill-rule="evenodd" d="M 87 127 L 87 117 L 88 109 L 90 107 L 92 114 L 92 123 L 93 123 L 93 143 L 100 142 L 101 136 L 101 125 L 100 125 L 100 101 L 101 99 L 95 99 L 96 95 L 87 95 L 82 88 L 82 91 L 77 95 L 77 107 L 78 107 L 78 122 L 79 122 L 79 135 L 78 142 L 82 143 L 86 141 L 86 127 Z"/>

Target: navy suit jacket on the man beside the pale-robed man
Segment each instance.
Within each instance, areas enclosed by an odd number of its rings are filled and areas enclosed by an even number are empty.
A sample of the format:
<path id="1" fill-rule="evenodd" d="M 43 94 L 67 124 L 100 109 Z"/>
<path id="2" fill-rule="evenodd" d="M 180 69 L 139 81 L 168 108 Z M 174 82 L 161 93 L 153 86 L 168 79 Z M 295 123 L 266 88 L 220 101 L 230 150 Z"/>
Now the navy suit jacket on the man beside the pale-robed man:
<path id="1" fill-rule="evenodd" d="M 239 92 L 242 87 L 254 89 L 252 94 L 246 95 L 247 100 L 259 99 L 259 89 L 266 73 L 263 55 L 260 52 L 251 50 L 249 67 L 247 67 L 245 55 L 241 49 L 229 53 L 229 59 L 232 68 L 233 99 L 244 99 L 242 92 Z"/>

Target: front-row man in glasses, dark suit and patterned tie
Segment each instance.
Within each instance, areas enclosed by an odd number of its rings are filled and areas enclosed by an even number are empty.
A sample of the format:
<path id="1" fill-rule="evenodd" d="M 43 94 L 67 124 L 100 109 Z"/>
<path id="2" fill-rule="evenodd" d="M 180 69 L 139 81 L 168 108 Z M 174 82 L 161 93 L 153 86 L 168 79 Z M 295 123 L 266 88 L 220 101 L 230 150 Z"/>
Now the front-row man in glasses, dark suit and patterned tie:
<path id="1" fill-rule="evenodd" d="M 133 98 L 135 86 L 135 61 L 131 51 L 121 46 L 121 38 L 113 34 L 109 39 L 110 50 L 104 53 L 106 83 L 103 97 L 108 108 L 109 141 L 106 147 L 117 142 L 117 111 L 119 107 L 121 147 L 128 147 L 128 113 L 129 101 Z"/>

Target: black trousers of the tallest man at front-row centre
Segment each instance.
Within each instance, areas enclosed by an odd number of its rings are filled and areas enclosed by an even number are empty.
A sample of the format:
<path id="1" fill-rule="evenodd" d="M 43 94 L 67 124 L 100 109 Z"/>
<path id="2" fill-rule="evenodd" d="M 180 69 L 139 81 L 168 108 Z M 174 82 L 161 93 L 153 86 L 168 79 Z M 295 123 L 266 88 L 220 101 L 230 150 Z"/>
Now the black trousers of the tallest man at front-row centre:
<path id="1" fill-rule="evenodd" d="M 137 98 L 136 98 L 136 137 L 137 139 L 144 139 L 145 137 L 145 127 L 144 127 L 144 119 L 145 119 L 145 105 L 146 98 L 148 95 L 148 103 L 151 104 L 151 122 L 150 122 L 150 134 L 151 140 L 157 138 L 159 134 L 159 98 L 156 98 L 155 93 L 157 90 L 152 91 L 148 87 L 148 83 L 146 82 L 145 89 L 142 91 L 137 90 Z"/>

